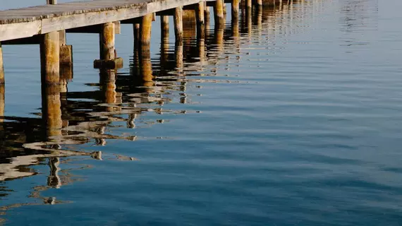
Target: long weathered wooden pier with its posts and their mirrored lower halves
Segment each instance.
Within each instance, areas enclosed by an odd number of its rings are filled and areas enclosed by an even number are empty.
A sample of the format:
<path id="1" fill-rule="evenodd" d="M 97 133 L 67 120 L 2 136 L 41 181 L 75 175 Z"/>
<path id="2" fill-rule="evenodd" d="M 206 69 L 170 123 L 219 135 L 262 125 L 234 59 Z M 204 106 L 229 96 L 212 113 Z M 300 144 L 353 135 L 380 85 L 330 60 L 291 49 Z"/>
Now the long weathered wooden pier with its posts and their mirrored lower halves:
<path id="1" fill-rule="evenodd" d="M 296 1 L 296 0 L 293 0 Z M 245 18 L 243 29 L 252 32 L 252 13 L 261 17 L 262 6 L 293 4 L 291 0 L 92 0 L 57 4 L 47 0 L 47 5 L 0 11 L 0 122 L 4 121 L 4 73 L 1 47 L 8 44 L 39 44 L 42 78 L 42 123 L 49 142 L 58 143 L 62 128 L 68 121 L 62 120 L 63 102 L 66 102 L 66 85 L 73 77 L 73 47 L 68 45 L 66 32 L 99 34 L 99 59 L 94 59 L 94 68 L 99 69 L 99 80 L 106 104 L 116 103 L 116 69 L 123 59 L 115 48 L 115 35 L 122 24 L 133 26 L 135 71 L 138 71 L 144 86 L 154 84 L 150 54 L 152 21 L 160 16 L 161 64 L 168 61 L 169 16 L 173 16 L 175 48 L 174 58 L 178 73 L 183 72 L 183 44 L 188 36 L 183 24 L 195 24 L 197 50 L 200 62 L 207 59 L 205 40 L 209 35 L 209 18 L 214 18 L 214 44 L 219 55 L 224 51 L 224 26 L 226 4 L 231 5 L 231 35 L 239 37 L 239 13 Z M 213 10 L 210 11 L 209 8 Z M 189 21 L 188 12 L 192 20 Z M 191 14 L 190 13 L 190 14 Z M 193 21 L 193 22 L 192 22 Z M 261 20 L 258 28 L 262 29 Z M 193 31 L 192 31 L 193 32 Z M 173 32 L 172 32 L 173 33 Z M 190 34 L 192 35 L 192 34 Z M 180 72 L 181 71 L 181 72 Z M 182 101 L 182 100 L 181 100 Z M 183 98 L 185 102 L 185 98 Z M 109 111 L 115 109 L 110 107 Z M 0 128 L 1 131 L 1 128 Z"/>

